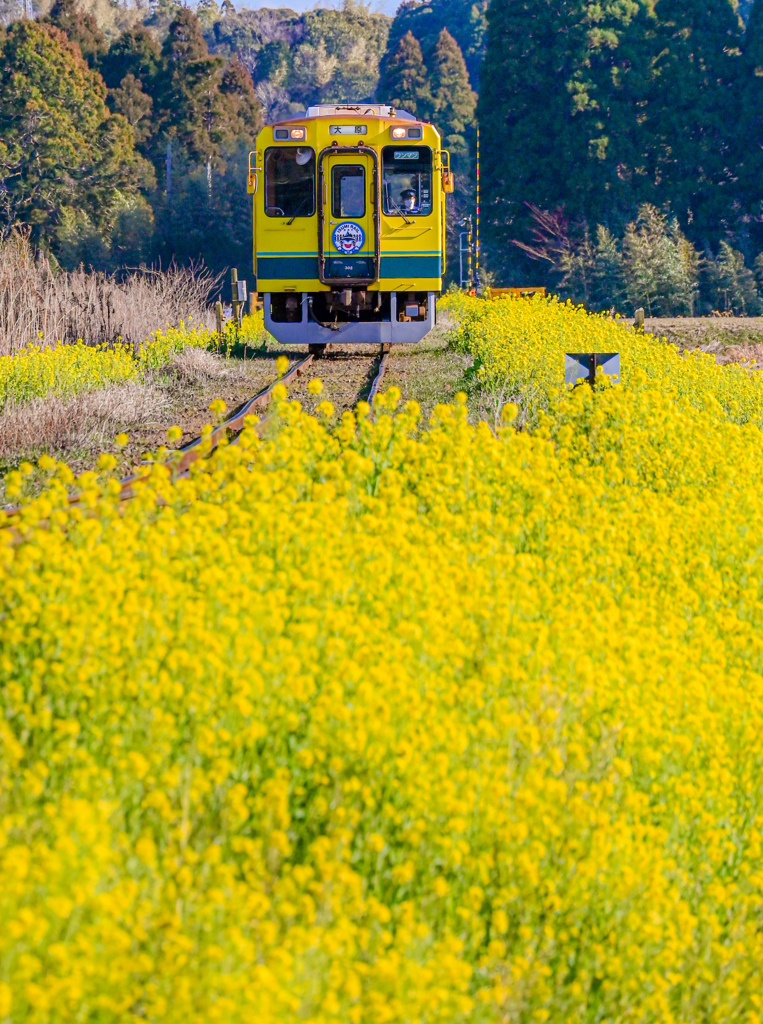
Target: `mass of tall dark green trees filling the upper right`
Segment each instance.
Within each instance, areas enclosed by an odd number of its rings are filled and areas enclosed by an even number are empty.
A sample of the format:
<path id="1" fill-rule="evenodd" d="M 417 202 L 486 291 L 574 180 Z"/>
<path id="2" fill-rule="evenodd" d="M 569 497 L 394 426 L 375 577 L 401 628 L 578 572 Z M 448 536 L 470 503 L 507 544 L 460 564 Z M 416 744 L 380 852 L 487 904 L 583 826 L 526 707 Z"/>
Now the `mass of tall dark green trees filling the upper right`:
<path id="1" fill-rule="evenodd" d="M 741 45 L 732 0 L 493 0 L 478 116 L 498 260 L 525 203 L 616 231 L 669 203 L 716 246 L 740 199 Z"/>

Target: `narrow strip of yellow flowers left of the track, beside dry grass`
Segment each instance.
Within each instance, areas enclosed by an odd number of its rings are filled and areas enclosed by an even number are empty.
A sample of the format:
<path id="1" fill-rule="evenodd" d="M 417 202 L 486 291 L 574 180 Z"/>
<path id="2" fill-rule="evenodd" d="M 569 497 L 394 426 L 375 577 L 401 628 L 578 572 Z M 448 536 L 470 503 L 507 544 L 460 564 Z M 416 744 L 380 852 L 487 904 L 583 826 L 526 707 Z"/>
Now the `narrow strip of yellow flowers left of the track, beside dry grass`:
<path id="1" fill-rule="evenodd" d="M 24 402 L 48 394 L 67 398 L 110 384 L 139 380 L 145 371 L 166 365 L 183 348 L 229 351 L 237 343 L 255 346 L 265 338 L 260 310 L 245 316 L 238 333 L 232 324 L 226 326 L 222 340 L 201 324 L 168 325 L 164 331 L 155 331 L 136 354 L 131 346 L 122 344 L 85 345 L 78 341 L 74 345 L 30 345 L 15 355 L 0 356 L 0 410 L 8 401 Z"/>

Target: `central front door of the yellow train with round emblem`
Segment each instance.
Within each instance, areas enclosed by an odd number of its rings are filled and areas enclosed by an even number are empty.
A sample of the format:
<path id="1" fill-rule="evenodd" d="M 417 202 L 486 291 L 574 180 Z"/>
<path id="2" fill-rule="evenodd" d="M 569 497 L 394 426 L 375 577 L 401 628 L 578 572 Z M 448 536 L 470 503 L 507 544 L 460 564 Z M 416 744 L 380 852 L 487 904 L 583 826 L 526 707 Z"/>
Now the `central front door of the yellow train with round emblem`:
<path id="1" fill-rule="evenodd" d="M 370 148 L 324 151 L 319 200 L 321 280 L 368 285 L 379 278 L 378 172 Z"/>

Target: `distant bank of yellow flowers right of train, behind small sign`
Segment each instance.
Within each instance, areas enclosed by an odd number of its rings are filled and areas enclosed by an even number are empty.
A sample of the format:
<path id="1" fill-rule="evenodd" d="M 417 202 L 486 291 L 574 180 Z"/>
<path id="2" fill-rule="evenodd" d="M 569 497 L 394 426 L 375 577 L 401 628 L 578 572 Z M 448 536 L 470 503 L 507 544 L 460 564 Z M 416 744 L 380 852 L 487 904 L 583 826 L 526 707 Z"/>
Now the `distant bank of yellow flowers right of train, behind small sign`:
<path id="1" fill-rule="evenodd" d="M 537 425 L 538 413 L 563 393 L 565 352 L 620 352 L 630 389 L 659 389 L 698 403 L 712 395 L 736 422 L 762 422 L 763 375 L 737 364 L 719 370 L 712 354 L 681 352 L 608 313 L 551 296 L 485 301 L 448 295 L 439 308 L 455 317 L 452 342 L 474 355 L 474 383 L 493 399 L 494 412 L 513 400 L 522 424 Z"/>

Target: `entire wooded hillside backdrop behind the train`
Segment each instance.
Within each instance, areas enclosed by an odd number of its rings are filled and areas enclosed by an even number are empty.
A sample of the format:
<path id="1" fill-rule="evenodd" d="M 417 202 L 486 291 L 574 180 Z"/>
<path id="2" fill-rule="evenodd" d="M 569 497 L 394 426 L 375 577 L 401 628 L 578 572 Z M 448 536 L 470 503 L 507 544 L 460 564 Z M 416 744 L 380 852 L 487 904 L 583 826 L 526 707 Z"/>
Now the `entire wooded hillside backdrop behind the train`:
<path id="1" fill-rule="evenodd" d="M 263 121 L 376 98 L 454 156 L 451 273 L 478 119 L 483 283 L 763 311 L 763 0 L 0 0 L 0 238 L 65 268 L 248 268 Z"/>

